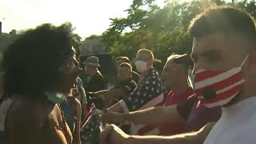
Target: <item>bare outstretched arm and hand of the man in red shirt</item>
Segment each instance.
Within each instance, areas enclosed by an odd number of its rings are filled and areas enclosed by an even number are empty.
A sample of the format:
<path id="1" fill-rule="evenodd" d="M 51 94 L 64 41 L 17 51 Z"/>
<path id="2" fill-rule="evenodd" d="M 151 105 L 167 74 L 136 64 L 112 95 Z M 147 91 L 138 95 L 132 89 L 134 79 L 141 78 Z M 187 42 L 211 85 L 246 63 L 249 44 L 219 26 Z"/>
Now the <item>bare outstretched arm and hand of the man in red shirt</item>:
<path id="1" fill-rule="evenodd" d="M 115 106 L 114 108 L 117 107 L 118 106 Z M 145 125 L 162 125 L 167 123 L 182 122 L 185 120 L 178 114 L 176 106 L 159 106 L 146 110 L 130 112 L 128 114 L 107 112 L 106 114 L 102 114 L 102 121 L 112 123 L 128 121 Z"/>

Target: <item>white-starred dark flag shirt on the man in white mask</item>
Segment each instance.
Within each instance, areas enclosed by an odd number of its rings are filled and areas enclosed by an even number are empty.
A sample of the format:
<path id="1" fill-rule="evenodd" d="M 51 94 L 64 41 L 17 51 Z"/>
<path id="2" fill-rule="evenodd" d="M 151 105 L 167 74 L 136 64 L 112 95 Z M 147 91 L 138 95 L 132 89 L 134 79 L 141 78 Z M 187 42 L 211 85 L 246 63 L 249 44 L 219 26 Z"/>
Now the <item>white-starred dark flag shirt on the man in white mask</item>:
<path id="1" fill-rule="evenodd" d="M 162 80 L 155 70 L 150 70 L 134 91 L 120 102 L 125 112 L 158 106 L 164 99 Z M 144 125 L 131 124 L 130 134 L 138 134 Z"/>

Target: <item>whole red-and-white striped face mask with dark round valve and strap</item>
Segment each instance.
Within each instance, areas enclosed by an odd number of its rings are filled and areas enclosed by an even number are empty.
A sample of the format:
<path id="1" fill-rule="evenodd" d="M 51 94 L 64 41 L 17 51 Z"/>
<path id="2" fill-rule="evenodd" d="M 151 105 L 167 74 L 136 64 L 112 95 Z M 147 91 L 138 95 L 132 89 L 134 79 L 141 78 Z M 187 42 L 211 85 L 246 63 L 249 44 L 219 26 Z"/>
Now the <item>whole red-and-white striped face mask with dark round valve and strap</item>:
<path id="1" fill-rule="evenodd" d="M 190 86 L 194 87 L 198 99 L 204 106 L 211 108 L 226 105 L 242 90 L 245 82 L 242 77 L 242 66 L 248 56 L 241 66 L 231 70 L 199 69 L 194 74 L 189 73 L 189 78 L 194 78 L 194 81 L 189 80 Z"/>

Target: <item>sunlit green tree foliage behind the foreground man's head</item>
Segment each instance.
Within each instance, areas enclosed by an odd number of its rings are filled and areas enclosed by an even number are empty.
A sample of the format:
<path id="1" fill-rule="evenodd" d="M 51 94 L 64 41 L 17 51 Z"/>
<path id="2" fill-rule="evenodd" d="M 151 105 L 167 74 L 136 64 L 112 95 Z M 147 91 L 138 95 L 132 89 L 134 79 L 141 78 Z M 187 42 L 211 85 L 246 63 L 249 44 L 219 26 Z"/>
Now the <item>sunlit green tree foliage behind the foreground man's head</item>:
<path id="1" fill-rule="evenodd" d="M 126 18 L 110 18 L 111 25 L 103 34 L 103 41 L 114 57 L 134 58 L 138 49 L 153 50 L 156 58 L 166 61 L 172 54 L 190 52 L 192 40 L 186 34 L 192 18 L 210 6 L 231 5 L 246 10 L 256 17 L 255 0 L 193 0 L 166 1 L 163 8 L 155 0 L 134 0 Z M 124 33 L 124 30 L 130 32 Z"/>

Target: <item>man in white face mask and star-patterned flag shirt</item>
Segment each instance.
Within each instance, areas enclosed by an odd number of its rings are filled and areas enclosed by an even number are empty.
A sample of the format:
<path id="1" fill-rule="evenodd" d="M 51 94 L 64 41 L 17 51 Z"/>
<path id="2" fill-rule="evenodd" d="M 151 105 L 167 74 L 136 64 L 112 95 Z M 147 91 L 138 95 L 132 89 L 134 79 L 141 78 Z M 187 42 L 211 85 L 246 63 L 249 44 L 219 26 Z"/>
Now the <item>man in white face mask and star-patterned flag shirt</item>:
<path id="1" fill-rule="evenodd" d="M 138 86 L 108 111 L 127 113 L 156 106 L 163 101 L 163 84 L 158 72 L 153 69 L 153 62 L 154 55 L 150 50 L 138 50 L 135 58 L 135 66 L 141 74 Z M 138 130 L 142 127 L 142 125 L 132 125 L 131 134 L 138 134 Z"/>

